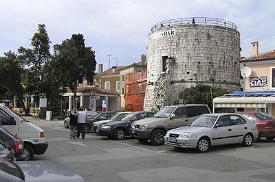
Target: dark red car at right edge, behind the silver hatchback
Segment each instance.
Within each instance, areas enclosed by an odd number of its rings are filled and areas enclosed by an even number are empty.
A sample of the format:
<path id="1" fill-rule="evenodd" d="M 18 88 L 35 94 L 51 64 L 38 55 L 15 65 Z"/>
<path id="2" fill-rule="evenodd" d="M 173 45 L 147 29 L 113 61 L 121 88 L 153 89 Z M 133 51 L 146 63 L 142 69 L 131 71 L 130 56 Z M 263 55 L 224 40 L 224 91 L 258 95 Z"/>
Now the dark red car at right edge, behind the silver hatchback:
<path id="1" fill-rule="evenodd" d="M 256 122 L 259 131 L 259 138 L 264 137 L 267 140 L 275 138 L 275 118 L 264 112 L 241 112 L 242 116 Z"/>

